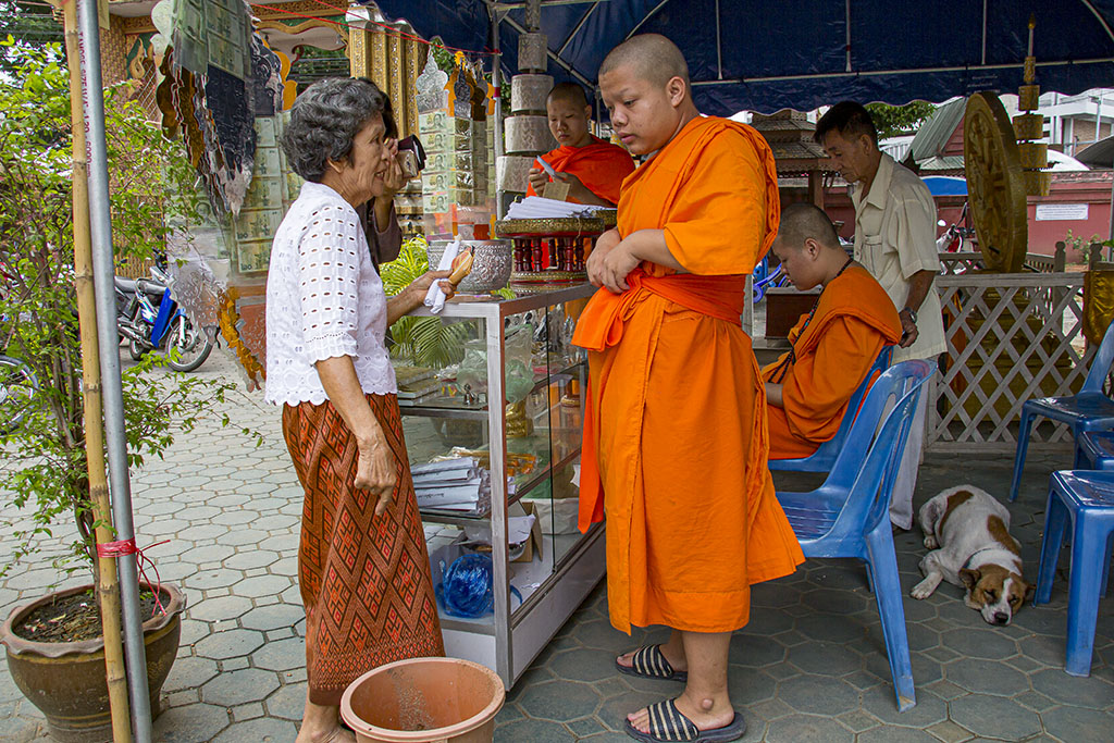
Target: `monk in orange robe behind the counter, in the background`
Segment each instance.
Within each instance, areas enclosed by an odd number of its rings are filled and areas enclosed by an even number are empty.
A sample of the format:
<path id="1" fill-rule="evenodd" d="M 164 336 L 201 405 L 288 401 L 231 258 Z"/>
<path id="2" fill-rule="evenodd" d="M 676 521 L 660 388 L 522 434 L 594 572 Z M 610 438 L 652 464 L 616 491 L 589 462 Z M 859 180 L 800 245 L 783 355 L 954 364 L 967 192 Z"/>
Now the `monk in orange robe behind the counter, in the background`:
<path id="1" fill-rule="evenodd" d="M 575 82 L 559 82 L 546 98 L 549 130 L 557 149 L 543 157 L 557 170 L 557 178 L 569 184 L 567 202 L 615 206 L 619 202 L 623 178 L 634 170 L 629 153 L 595 137 L 588 131 L 592 107 L 584 88 Z M 527 196 L 544 195 L 549 176 L 536 160 L 530 168 Z"/>

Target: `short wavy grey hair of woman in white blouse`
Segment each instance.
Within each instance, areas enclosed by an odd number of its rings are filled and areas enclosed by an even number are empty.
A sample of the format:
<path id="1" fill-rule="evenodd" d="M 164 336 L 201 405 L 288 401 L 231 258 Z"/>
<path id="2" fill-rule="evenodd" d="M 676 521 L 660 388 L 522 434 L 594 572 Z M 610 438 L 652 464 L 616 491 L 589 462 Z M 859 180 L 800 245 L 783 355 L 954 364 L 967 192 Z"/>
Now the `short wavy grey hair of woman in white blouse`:
<path id="1" fill-rule="evenodd" d="M 397 136 L 391 101 L 368 78 L 325 78 L 311 85 L 294 101 L 282 138 L 294 173 L 321 183 L 326 162 L 346 159 L 355 135 L 379 114 L 385 136 Z"/>

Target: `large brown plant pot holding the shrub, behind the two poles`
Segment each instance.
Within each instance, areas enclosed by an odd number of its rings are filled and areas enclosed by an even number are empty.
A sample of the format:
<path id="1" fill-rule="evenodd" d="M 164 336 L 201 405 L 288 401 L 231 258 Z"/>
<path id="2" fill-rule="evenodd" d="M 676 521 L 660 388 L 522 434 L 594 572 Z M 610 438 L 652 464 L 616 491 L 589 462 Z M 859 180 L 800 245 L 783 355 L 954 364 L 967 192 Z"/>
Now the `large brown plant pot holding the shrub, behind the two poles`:
<path id="1" fill-rule="evenodd" d="M 0 629 L 11 677 L 19 691 L 46 715 L 50 734 L 61 743 L 100 743 L 113 737 L 108 682 L 105 680 L 105 641 L 97 637 L 77 643 L 36 643 L 19 637 L 12 628 L 40 606 L 91 587 L 67 588 L 17 607 Z M 159 692 L 178 654 L 180 615 L 186 608 L 186 597 L 175 586 L 163 584 L 160 595 L 166 616 L 159 614 L 143 625 L 153 715 L 159 712 Z"/>

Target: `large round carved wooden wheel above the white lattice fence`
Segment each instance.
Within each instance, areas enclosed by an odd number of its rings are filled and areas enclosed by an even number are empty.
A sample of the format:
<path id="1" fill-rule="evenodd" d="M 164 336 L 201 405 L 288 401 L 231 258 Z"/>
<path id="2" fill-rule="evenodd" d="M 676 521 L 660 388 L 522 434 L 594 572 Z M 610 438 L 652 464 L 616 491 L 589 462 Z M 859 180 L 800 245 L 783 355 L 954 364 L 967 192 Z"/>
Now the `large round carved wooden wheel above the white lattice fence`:
<path id="1" fill-rule="evenodd" d="M 984 265 L 999 273 L 1020 271 L 1028 250 L 1025 178 L 1014 126 L 993 92 L 967 99 L 964 168 Z"/>

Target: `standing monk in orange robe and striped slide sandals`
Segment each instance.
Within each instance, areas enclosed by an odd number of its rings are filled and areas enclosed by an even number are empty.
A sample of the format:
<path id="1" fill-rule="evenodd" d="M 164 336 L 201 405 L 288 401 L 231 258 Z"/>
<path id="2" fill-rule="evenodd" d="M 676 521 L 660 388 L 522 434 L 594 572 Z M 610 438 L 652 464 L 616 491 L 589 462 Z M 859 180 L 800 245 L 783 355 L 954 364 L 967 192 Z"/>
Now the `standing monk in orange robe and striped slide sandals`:
<path id="1" fill-rule="evenodd" d="M 603 289 L 574 336 L 590 371 L 580 528 L 606 511 L 612 624 L 674 630 L 619 671 L 686 680 L 676 700 L 629 714 L 627 734 L 735 740 L 731 633 L 751 585 L 804 559 L 765 466 L 765 393 L 740 323 L 746 275 L 778 229 L 773 155 L 754 129 L 701 117 L 665 37 L 616 47 L 599 86 L 623 143 L 648 158 L 588 260 Z"/>

